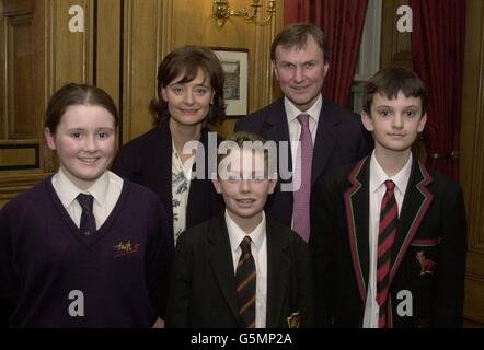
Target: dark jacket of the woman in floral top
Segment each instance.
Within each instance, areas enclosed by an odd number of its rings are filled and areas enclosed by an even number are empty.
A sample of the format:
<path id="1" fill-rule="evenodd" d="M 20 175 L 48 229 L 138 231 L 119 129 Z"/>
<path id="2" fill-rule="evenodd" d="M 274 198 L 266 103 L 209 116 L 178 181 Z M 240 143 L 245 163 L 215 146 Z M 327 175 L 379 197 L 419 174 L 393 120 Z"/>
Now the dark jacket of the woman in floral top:
<path id="1" fill-rule="evenodd" d="M 205 148 L 205 179 L 194 178 L 191 182 L 186 228 L 210 219 L 223 208 L 221 196 L 208 178 L 209 160 L 216 162 L 216 156 L 209 158 L 208 154 L 208 129 L 203 129 L 200 142 Z M 217 137 L 215 145 L 219 142 Z M 160 197 L 173 232 L 172 151 L 169 121 L 164 120 L 154 129 L 126 143 L 117 153 L 112 170 L 122 177 L 152 189 Z M 216 166 L 216 163 L 214 164 Z M 197 163 L 194 163 L 194 171 L 196 166 Z"/>

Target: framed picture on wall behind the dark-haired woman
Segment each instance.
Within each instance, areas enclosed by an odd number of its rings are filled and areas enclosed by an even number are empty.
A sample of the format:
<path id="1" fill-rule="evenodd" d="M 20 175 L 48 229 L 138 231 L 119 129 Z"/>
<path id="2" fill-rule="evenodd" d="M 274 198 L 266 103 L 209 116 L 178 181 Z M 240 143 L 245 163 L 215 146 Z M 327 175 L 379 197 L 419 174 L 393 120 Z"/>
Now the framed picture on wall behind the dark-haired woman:
<path id="1" fill-rule="evenodd" d="M 212 47 L 226 73 L 223 98 L 227 117 L 237 118 L 249 113 L 249 50 Z"/>

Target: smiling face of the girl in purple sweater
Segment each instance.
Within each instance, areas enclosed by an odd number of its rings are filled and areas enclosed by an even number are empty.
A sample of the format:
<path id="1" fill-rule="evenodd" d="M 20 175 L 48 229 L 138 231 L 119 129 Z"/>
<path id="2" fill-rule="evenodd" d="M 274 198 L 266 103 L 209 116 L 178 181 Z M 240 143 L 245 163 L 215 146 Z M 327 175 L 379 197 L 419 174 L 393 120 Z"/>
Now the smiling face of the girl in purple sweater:
<path id="1" fill-rule="evenodd" d="M 45 138 L 68 177 L 74 183 L 91 184 L 113 160 L 115 130 L 115 119 L 105 108 L 72 105 L 61 116 L 55 133 L 45 129 Z"/>

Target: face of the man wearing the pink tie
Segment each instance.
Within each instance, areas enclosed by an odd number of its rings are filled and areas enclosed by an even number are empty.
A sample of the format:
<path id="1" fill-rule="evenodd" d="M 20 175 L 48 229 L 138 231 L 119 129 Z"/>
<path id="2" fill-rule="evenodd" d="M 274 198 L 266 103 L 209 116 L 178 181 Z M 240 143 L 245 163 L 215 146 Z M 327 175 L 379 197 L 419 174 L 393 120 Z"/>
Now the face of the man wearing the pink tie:
<path id="1" fill-rule="evenodd" d="M 327 73 L 329 63 L 321 48 L 309 35 L 302 48 L 278 46 L 275 55 L 273 66 L 280 90 L 300 110 L 308 110 L 318 100 Z"/>

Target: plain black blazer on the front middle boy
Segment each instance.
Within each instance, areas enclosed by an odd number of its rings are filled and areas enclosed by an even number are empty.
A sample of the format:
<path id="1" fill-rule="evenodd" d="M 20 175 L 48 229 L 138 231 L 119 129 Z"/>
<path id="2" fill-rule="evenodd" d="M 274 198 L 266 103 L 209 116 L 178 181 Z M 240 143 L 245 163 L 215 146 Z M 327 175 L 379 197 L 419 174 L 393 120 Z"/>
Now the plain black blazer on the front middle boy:
<path id="1" fill-rule="evenodd" d="M 312 325 L 313 284 L 307 244 L 266 215 L 267 328 Z M 235 278 L 223 213 L 182 233 L 169 291 L 166 327 L 241 327 Z"/>

